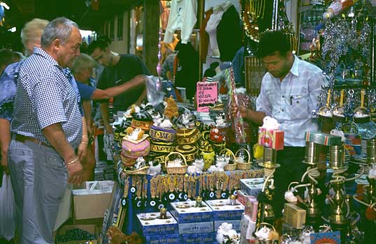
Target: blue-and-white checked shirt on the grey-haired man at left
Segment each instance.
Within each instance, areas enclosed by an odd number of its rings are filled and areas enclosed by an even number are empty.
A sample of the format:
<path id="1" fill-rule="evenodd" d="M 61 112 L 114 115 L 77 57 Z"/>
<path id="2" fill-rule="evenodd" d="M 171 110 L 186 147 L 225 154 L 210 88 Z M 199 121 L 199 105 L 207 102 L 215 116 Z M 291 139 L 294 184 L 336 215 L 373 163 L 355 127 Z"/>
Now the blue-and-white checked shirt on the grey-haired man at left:
<path id="1" fill-rule="evenodd" d="M 11 130 L 49 144 L 42 129 L 61 123 L 67 141 L 77 148 L 82 138 L 78 102 L 62 67 L 43 49 L 34 47 L 20 67 Z"/>

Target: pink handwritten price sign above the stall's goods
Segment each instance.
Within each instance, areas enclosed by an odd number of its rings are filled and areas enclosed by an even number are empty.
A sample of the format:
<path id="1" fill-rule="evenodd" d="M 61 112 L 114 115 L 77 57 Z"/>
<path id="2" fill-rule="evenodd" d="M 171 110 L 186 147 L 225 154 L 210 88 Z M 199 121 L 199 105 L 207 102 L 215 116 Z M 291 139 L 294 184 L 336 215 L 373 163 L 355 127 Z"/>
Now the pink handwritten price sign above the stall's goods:
<path id="1" fill-rule="evenodd" d="M 197 82 L 196 101 L 198 112 L 208 112 L 218 100 L 218 82 Z"/>

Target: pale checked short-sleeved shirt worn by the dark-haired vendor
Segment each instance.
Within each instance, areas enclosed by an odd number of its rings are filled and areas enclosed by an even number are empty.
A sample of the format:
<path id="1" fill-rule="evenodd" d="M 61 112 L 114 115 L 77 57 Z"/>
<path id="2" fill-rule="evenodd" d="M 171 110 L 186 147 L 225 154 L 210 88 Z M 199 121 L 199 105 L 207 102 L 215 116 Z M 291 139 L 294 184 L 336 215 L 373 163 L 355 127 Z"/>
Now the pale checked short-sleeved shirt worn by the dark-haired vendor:
<path id="1" fill-rule="evenodd" d="M 305 146 L 304 133 L 319 130 L 312 110 L 317 109 L 317 97 L 323 84 L 326 78 L 322 70 L 295 55 L 294 64 L 282 82 L 270 73 L 264 75 L 256 110 L 281 124 L 284 146 Z"/>

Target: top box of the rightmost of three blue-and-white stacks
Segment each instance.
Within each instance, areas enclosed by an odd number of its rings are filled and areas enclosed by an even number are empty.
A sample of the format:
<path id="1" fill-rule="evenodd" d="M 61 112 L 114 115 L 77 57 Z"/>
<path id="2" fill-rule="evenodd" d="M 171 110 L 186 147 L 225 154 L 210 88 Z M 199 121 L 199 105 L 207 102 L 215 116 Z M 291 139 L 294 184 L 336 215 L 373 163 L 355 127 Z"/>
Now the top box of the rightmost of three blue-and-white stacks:
<path id="1" fill-rule="evenodd" d="M 205 201 L 212 208 L 213 220 L 240 220 L 244 212 L 244 205 L 235 200 L 235 205 L 229 205 L 230 200 Z"/>

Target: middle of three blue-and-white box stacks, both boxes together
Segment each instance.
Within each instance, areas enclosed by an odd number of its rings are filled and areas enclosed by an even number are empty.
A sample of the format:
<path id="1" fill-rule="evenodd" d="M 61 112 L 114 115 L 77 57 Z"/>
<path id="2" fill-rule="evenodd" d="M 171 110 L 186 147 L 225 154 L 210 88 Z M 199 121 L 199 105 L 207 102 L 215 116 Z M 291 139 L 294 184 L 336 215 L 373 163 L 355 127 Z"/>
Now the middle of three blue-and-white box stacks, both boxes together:
<path id="1" fill-rule="evenodd" d="M 196 207 L 196 201 L 180 201 L 171 203 L 171 206 L 182 243 L 212 243 L 214 227 L 212 209 L 208 204 Z"/>

